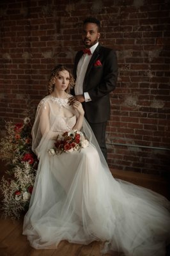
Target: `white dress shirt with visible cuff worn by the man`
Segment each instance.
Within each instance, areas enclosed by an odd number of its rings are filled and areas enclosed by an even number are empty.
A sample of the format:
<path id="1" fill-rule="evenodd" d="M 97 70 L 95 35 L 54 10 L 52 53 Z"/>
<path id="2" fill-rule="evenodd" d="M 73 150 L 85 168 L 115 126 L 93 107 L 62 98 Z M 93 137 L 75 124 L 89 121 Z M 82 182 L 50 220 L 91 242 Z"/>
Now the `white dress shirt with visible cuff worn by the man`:
<path id="1" fill-rule="evenodd" d="M 95 51 L 95 49 L 97 48 L 97 45 L 98 45 L 98 42 L 97 44 L 89 48 L 91 51 L 91 55 L 83 54 L 81 57 L 81 60 L 79 60 L 79 63 L 77 65 L 77 79 L 75 81 L 75 95 L 83 94 L 82 84 L 83 84 L 84 77 L 89 65 L 89 61 L 91 60 L 91 56 Z M 84 99 L 86 102 L 91 100 L 88 92 L 84 92 Z"/>

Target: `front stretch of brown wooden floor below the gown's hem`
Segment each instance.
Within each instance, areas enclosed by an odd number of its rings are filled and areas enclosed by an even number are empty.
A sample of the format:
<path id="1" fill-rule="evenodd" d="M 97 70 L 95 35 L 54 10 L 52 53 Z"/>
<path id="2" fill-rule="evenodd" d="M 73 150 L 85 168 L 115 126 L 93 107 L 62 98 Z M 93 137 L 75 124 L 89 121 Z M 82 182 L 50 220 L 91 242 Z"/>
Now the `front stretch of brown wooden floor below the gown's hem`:
<path id="1" fill-rule="evenodd" d="M 22 220 L 0 220 L 0 255 L 1 256 L 102 256 L 100 243 L 94 241 L 89 245 L 59 243 L 56 250 L 35 250 L 29 245 L 27 237 L 22 235 Z M 121 253 L 105 256 L 123 256 Z"/>

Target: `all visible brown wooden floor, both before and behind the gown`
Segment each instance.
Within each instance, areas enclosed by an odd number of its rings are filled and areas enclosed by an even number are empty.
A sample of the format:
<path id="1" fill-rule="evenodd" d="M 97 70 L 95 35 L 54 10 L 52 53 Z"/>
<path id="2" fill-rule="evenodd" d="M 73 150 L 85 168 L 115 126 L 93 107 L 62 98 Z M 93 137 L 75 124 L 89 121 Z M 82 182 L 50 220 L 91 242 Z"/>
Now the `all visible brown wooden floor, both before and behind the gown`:
<path id="1" fill-rule="evenodd" d="M 1 165 L 0 179 L 3 175 Z M 111 170 L 117 179 L 124 179 L 137 185 L 150 188 L 158 193 L 168 196 L 167 180 L 154 179 L 151 175 Z M 55 250 L 35 250 L 29 245 L 27 237 L 22 235 L 23 218 L 17 221 L 0 218 L 0 256 L 102 256 L 101 243 L 94 241 L 88 245 L 71 244 L 66 241 L 59 243 Z M 104 256 L 123 256 L 123 253 L 107 253 Z M 170 254 L 167 252 L 166 256 Z M 147 256 L 147 255 L 146 255 Z"/>

